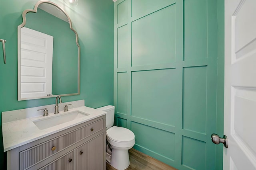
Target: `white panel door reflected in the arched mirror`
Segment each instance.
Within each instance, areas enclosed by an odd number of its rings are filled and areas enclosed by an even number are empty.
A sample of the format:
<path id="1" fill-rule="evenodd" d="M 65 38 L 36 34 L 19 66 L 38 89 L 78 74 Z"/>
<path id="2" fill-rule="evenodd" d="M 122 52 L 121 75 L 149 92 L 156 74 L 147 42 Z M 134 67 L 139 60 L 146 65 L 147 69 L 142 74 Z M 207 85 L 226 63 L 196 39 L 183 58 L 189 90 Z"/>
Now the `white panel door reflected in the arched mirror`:
<path id="1" fill-rule="evenodd" d="M 52 94 L 53 37 L 21 28 L 21 98 Z"/>

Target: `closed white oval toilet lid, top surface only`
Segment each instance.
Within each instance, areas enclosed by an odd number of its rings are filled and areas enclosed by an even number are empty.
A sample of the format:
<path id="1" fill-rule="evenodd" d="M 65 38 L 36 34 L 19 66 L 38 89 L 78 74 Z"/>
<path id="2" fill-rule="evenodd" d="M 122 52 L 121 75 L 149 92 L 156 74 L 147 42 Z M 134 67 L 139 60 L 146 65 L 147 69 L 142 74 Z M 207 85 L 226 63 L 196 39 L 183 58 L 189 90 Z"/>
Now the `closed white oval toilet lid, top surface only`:
<path id="1" fill-rule="evenodd" d="M 135 137 L 134 133 L 124 127 L 113 126 L 107 130 L 108 137 L 113 141 L 128 142 Z"/>

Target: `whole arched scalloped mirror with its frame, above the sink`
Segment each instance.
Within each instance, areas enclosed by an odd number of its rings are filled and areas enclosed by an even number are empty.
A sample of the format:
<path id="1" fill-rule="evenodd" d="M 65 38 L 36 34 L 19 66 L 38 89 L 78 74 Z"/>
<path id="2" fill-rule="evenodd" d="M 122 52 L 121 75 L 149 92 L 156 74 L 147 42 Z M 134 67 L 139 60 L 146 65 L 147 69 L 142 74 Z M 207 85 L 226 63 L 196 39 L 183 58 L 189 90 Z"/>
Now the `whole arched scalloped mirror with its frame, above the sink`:
<path id="1" fill-rule="evenodd" d="M 41 0 L 18 26 L 18 100 L 80 94 L 80 46 L 66 12 Z"/>

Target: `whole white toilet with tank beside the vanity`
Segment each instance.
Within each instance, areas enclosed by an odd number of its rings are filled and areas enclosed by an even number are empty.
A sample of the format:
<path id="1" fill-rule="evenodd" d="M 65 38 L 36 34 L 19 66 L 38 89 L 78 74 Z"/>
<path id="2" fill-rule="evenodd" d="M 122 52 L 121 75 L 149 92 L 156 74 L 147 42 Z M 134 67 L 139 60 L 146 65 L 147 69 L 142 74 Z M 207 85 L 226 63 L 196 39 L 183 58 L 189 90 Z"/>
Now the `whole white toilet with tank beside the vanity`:
<path id="1" fill-rule="evenodd" d="M 118 170 L 124 170 L 130 165 L 128 149 L 135 144 L 135 135 L 129 129 L 114 125 L 114 106 L 98 108 L 106 111 L 106 161 Z M 113 127 L 112 127 L 113 126 Z"/>

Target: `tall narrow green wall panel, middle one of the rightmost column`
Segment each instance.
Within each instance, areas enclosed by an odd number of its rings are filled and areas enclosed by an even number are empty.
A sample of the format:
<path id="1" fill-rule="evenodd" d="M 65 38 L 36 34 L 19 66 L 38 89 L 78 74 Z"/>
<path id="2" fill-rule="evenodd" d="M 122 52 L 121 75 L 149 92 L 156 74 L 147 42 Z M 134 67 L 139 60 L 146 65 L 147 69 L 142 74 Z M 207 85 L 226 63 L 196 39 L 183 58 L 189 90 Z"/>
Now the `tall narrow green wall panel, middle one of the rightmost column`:
<path id="1" fill-rule="evenodd" d="M 183 129 L 206 133 L 207 67 L 183 68 Z"/>

